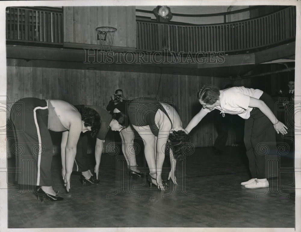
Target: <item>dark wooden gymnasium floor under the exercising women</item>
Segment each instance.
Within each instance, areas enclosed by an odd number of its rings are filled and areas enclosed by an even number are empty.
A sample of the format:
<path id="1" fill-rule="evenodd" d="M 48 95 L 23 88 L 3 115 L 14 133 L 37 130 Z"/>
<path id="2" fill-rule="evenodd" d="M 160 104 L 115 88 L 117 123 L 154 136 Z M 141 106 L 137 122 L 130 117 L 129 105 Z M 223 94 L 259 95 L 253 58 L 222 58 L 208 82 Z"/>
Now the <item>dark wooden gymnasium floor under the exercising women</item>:
<path id="1" fill-rule="evenodd" d="M 219 156 L 211 148 L 196 148 L 181 163 L 185 165 L 178 165 L 182 166 L 177 173 L 178 186 L 168 182 L 169 189 L 164 192 L 148 188 L 144 178 L 125 177 L 120 172 L 123 161 L 103 154 L 101 183 L 82 186 L 79 173 L 73 173 L 70 192 L 66 193 L 61 160 L 54 157 L 53 188 L 64 200 L 40 202 L 32 191 L 9 189 L 8 228 L 295 227 L 295 200 L 288 198 L 294 193 L 293 172 L 281 172 L 267 190 L 246 189 L 240 182 L 250 176 L 240 147 L 227 147 Z M 143 154 L 137 155 L 137 162 L 140 168 L 144 166 Z M 12 163 L 8 160 L 8 166 Z M 164 166 L 168 166 L 167 157 Z M 281 157 L 280 167 L 290 170 L 292 156 Z M 167 175 L 164 173 L 163 178 Z M 8 182 L 13 184 L 13 179 L 10 173 Z"/>

